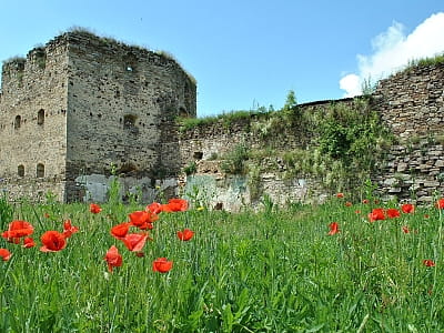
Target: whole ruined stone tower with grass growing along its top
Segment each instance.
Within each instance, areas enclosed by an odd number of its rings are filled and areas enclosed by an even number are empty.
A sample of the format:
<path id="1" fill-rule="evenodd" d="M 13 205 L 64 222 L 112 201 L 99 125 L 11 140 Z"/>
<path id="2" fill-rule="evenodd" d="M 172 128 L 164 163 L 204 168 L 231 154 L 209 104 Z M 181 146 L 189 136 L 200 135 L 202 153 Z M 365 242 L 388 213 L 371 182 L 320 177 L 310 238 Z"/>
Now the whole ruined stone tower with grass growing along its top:
<path id="1" fill-rule="evenodd" d="M 63 33 L 3 63 L 0 189 L 100 201 L 114 168 L 147 194 L 180 168 L 173 120 L 195 104 L 195 81 L 171 57 Z"/>

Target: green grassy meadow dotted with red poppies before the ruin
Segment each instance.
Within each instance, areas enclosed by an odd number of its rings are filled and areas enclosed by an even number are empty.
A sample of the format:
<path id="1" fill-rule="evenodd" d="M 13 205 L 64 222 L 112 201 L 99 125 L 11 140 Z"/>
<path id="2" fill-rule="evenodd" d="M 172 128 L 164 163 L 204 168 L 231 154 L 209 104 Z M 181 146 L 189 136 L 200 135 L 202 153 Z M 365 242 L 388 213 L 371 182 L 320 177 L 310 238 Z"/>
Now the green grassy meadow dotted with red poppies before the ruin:
<path id="1" fill-rule="evenodd" d="M 3 202 L 0 331 L 444 330 L 444 200 L 264 205 Z"/>

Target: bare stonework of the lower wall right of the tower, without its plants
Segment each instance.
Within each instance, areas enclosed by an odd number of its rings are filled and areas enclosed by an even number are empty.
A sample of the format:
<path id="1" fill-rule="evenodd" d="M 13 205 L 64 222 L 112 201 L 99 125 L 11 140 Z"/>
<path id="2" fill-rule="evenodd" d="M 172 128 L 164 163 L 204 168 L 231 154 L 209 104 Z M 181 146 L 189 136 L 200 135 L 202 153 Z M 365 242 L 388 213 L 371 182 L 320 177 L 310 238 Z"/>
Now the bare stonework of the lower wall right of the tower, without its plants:
<path id="1" fill-rule="evenodd" d="M 371 180 L 384 200 L 397 199 L 431 203 L 434 195 L 444 194 L 444 63 L 416 65 L 396 73 L 379 83 L 371 97 L 371 107 L 381 115 L 382 125 L 393 134 L 393 145 L 386 148 Z M 300 105 L 301 112 L 323 112 L 331 103 L 352 105 L 351 99 L 314 102 Z M 221 120 L 186 131 L 181 137 L 182 167 L 196 163 L 198 172 L 188 176 L 185 192 L 196 186 L 215 193 L 210 204 L 219 201 L 229 209 L 238 209 L 241 201 L 258 205 L 269 195 L 274 202 L 323 201 L 332 195 L 315 176 L 304 174 L 289 179 L 280 155 L 264 157 L 259 169 L 266 172 L 235 178 L 224 174 L 221 161 L 208 161 L 223 155 L 240 142 L 260 149 L 270 147 L 266 133 L 270 121 L 253 115 L 241 123 L 224 125 Z M 283 123 L 278 134 L 271 137 L 272 147 L 285 150 L 311 149 L 316 145 L 316 129 L 306 124 Z M 273 151 L 275 153 L 275 151 Z M 263 168 L 265 165 L 265 168 Z M 253 167 L 254 168 L 254 167 Z M 212 180 L 211 180 L 212 179 Z M 205 186 L 205 184 L 208 184 Z M 253 199 L 254 186 L 260 186 L 261 198 Z M 346 189 L 345 189 L 346 190 Z M 241 198 L 241 200 L 239 199 Z"/>

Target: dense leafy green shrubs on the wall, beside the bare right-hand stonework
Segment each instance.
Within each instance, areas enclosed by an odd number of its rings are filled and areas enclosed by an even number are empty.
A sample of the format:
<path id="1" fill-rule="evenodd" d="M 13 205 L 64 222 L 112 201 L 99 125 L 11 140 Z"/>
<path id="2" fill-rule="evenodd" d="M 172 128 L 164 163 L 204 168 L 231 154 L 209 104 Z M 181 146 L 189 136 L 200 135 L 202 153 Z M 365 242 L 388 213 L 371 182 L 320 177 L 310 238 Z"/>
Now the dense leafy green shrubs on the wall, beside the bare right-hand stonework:
<path id="1" fill-rule="evenodd" d="M 284 154 L 289 176 L 317 178 L 332 190 L 353 189 L 370 178 L 392 138 L 370 99 L 332 103 L 324 112 L 304 114 L 316 132 L 314 144 Z"/>

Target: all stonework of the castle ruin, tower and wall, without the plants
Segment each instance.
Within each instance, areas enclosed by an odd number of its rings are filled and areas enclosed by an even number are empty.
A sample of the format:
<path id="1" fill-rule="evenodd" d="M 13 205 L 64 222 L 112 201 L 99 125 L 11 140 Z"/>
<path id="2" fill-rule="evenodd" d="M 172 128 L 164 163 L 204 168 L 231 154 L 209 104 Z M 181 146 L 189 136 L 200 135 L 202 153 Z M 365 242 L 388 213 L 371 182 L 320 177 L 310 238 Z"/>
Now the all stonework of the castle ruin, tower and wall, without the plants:
<path id="1" fill-rule="evenodd" d="M 369 176 L 385 198 L 433 202 L 444 193 L 444 62 L 382 80 L 370 98 L 396 140 Z M 313 113 L 353 103 L 297 107 Z M 299 124 L 265 142 L 272 124 L 266 117 L 181 130 L 178 115 L 195 118 L 196 85 L 171 57 L 84 31 L 63 33 L 26 59 L 3 63 L 0 189 L 11 199 L 53 193 L 64 202 L 105 201 L 119 176 L 123 196 L 138 193 L 150 201 L 160 188 L 167 196 L 194 192 L 229 210 L 258 204 L 264 195 L 282 204 L 329 195 L 310 174 L 285 176 L 285 150 L 316 144 L 315 133 Z M 240 142 L 280 155 L 262 158 L 252 169 L 258 172 L 228 174 L 223 155 Z M 186 168 L 193 172 L 184 176 Z"/>

